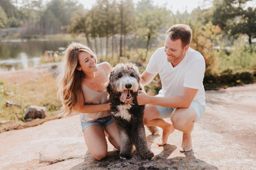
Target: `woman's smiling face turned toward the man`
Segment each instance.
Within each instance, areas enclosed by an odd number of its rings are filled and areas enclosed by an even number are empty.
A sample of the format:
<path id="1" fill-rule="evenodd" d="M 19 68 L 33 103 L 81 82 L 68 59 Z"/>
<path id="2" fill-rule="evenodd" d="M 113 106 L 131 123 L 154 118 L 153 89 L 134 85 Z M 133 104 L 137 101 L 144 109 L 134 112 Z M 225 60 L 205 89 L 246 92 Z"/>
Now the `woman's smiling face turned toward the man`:
<path id="1" fill-rule="evenodd" d="M 97 58 L 90 53 L 82 51 L 78 55 L 78 61 L 80 66 L 77 67 L 78 71 L 83 73 L 92 73 L 98 70 Z"/>

